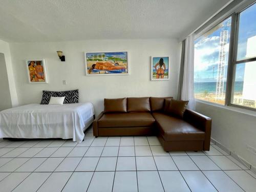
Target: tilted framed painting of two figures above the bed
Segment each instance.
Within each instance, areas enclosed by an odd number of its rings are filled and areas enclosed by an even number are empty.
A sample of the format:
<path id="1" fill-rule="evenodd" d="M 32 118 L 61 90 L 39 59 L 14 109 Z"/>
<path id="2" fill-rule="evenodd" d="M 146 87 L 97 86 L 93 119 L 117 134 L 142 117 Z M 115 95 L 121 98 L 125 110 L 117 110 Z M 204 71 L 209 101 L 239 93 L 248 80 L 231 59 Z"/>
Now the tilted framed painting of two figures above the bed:
<path id="1" fill-rule="evenodd" d="M 45 59 L 27 59 L 29 83 L 48 83 Z"/>

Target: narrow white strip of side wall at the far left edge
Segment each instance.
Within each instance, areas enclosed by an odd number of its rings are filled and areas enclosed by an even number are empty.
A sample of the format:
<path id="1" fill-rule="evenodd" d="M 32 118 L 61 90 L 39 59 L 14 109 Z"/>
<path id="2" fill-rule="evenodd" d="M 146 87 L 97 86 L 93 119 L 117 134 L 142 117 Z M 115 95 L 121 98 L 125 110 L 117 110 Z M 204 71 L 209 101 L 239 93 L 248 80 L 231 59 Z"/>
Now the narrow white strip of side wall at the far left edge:
<path id="1" fill-rule="evenodd" d="M 12 103 L 12 106 L 17 106 L 18 98 L 17 98 L 13 69 L 12 69 L 10 48 L 9 48 L 8 42 L 3 41 L 1 39 L 0 39 L 0 53 L 3 53 L 5 55 L 5 63 L 6 63 L 6 70 L 7 70 L 7 75 L 8 75 L 11 103 Z M 0 76 L 0 82 L 2 82 L 2 78 L 4 78 L 4 77 Z"/>

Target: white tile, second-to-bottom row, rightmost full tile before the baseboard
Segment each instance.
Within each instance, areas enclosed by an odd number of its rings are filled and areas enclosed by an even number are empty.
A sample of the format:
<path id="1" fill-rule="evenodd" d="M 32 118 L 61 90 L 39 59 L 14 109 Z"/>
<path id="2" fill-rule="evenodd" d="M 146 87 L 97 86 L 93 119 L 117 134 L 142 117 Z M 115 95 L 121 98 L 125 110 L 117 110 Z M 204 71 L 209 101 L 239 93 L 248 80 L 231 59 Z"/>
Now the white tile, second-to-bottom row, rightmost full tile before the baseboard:
<path id="1" fill-rule="evenodd" d="M 222 170 L 238 170 L 241 169 L 238 165 L 233 163 L 226 156 L 208 156 L 214 161 Z"/>

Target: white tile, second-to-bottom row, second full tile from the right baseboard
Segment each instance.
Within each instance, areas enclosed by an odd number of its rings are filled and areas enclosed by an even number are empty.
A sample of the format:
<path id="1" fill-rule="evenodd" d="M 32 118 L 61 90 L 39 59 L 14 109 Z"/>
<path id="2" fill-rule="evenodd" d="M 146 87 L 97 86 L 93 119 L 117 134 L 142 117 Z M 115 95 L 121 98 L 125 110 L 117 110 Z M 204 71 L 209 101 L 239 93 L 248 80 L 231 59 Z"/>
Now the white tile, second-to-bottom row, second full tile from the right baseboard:
<path id="1" fill-rule="evenodd" d="M 220 170 L 212 160 L 207 156 L 190 156 L 201 170 Z"/>

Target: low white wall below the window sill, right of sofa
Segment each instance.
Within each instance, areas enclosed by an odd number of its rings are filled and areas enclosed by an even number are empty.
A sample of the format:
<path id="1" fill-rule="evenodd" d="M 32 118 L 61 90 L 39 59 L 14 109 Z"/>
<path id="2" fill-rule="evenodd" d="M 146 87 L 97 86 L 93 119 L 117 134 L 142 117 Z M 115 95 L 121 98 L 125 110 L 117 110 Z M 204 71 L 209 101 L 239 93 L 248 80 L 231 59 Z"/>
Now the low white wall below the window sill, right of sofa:
<path id="1" fill-rule="evenodd" d="M 256 167 L 256 156 L 246 148 L 246 145 L 256 148 L 255 115 L 202 102 L 196 102 L 196 111 L 212 118 L 212 138 Z"/>

